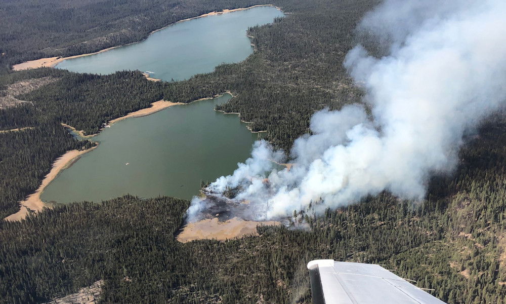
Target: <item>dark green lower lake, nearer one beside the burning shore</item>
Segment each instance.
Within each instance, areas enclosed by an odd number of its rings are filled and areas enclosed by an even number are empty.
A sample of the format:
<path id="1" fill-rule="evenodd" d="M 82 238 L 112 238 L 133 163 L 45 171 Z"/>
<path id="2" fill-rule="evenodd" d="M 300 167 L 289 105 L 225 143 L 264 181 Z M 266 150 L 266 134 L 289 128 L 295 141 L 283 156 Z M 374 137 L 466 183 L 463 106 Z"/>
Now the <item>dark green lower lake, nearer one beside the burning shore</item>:
<path id="1" fill-rule="evenodd" d="M 63 170 L 41 195 L 44 202 L 100 202 L 123 194 L 190 199 L 200 181 L 232 173 L 257 134 L 237 115 L 214 111 L 225 94 L 129 118 L 92 140 L 99 146 Z M 128 165 L 126 165 L 128 164 Z"/>

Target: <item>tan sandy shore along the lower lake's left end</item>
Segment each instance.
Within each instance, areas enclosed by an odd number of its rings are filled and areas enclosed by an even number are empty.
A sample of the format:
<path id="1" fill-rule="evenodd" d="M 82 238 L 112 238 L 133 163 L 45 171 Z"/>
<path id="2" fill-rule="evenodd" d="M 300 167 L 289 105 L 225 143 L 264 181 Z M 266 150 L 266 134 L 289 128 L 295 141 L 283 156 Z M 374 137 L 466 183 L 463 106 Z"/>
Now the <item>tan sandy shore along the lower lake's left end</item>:
<path id="1" fill-rule="evenodd" d="M 5 219 L 8 221 L 19 221 L 24 219 L 30 211 L 33 212 L 39 212 L 44 207 L 50 207 L 44 204 L 43 201 L 40 200 L 40 194 L 44 191 L 44 188 L 46 188 L 49 183 L 55 179 L 56 176 L 58 176 L 58 173 L 60 173 L 62 170 L 67 168 L 70 164 L 72 164 L 72 161 L 74 161 L 76 158 L 80 157 L 81 155 L 93 150 L 95 147 L 89 148 L 87 150 L 70 150 L 67 151 L 64 155 L 62 155 L 60 158 L 58 158 L 53 163 L 53 168 L 51 171 L 46 175 L 46 177 L 42 180 L 42 183 L 38 187 L 38 189 L 35 191 L 35 193 L 31 194 L 26 198 L 26 200 L 20 202 L 20 210 L 14 214 L 9 215 Z"/>

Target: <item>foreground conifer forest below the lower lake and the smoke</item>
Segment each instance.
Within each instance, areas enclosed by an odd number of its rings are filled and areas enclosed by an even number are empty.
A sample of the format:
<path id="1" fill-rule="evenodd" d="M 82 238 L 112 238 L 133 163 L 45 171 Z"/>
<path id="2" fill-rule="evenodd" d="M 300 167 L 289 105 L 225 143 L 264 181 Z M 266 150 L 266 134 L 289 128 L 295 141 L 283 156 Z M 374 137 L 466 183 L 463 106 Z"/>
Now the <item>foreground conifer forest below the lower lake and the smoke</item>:
<path id="1" fill-rule="evenodd" d="M 305 264 L 332 257 L 385 264 L 450 304 L 502 304 L 503 128 L 484 127 L 455 177 L 435 178 L 427 200 L 383 193 L 308 215 L 309 230 L 264 227 L 261 237 L 181 244 L 189 202 L 135 197 L 4 222 L 0 302 L 45 301 L 104 279 L 105 303 L 310 303 Z"/>

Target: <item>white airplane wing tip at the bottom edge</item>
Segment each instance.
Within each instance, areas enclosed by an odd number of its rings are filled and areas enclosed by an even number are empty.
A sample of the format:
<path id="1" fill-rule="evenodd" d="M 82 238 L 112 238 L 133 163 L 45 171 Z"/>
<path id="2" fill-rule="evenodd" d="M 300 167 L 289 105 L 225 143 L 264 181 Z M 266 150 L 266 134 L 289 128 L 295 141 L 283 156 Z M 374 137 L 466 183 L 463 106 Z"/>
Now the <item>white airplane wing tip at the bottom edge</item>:
<path id="1" fill-rule="evenodd" d="M 375 264 L 308 263 L 314 304 L 446 304 Z"/>

